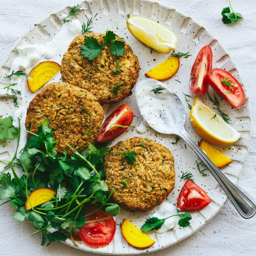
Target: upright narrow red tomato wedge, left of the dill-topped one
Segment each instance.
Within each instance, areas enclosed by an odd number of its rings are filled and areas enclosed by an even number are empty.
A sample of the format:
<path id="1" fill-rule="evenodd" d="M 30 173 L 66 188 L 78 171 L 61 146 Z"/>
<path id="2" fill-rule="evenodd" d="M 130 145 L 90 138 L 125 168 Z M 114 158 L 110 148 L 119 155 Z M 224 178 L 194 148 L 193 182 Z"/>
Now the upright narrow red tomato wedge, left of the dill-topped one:
<path id="1" fill-rule="evenodd" d="M 209 84 L 205 81 L 205 75 L 212 69 L 212 49 L 204 46 L 197 54 L 190 74 L 190 90 L 197 94 L 205 94 Z"/>

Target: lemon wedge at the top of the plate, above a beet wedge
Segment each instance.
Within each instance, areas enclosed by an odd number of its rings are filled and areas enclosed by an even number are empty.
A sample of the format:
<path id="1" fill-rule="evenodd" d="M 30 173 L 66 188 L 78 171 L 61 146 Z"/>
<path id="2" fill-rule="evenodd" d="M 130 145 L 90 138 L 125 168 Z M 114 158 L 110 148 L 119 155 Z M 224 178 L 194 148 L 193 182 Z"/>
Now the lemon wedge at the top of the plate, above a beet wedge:
<path id="1" fill-rule="evenodd" d="M 157 52 L 168 54 L 176 48 L 177 36 L 156 21 L 133 16 L 126 25 L 136 39 Z"/>

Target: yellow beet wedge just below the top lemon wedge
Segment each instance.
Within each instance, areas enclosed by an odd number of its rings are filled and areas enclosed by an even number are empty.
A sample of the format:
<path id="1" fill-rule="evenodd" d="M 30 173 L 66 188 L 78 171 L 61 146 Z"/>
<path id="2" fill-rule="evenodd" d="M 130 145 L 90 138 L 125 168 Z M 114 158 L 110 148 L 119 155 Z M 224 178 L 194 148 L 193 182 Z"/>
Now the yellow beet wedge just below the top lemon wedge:
<path id="1" fill-rule="evenodd" d="M 155 68 L 149 70 L 145 75 L 149 78 L 156 80 L 165 80 L 168 79 L 179 69 L 179 58 L 171 57 L 161 64 L 157 65 Z"/>

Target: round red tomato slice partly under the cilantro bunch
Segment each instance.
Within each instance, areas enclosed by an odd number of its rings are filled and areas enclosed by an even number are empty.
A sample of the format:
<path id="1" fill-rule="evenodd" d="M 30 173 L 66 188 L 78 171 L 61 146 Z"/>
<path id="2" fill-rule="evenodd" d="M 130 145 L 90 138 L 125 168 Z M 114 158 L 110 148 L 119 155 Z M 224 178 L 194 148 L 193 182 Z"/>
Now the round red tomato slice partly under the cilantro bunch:
<path id="1" fill-rule="evenodd" d="M 86 209 L 86 213 L 90 213 L 96 210 L 96 207 L 90 206 Z M 111 214 L 108 214 L 102 210 L 86 217 L 86 221 L 98 220 L 110 217 Z M 82 227 L 79 228 L 78 235 L 80 238 L 88 245 L 91 246 L 104 246 L 108 245 L 115 235 L 116 231 L 116 222 L 114 218 L 100 220 L 90 223 L 85 223 Z"/>

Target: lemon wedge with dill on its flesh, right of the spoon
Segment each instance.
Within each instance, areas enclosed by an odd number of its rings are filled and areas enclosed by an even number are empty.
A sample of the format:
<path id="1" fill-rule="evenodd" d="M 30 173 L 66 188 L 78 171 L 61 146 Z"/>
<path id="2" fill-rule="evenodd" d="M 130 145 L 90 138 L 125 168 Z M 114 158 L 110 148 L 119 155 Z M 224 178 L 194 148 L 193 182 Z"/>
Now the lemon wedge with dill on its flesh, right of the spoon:
<path id="1" fill-rule="evenodd" d="M 190 121 L 198 135 L 215 145 L 231 145 L 241 136 L 233 127 L 225 123 L 221 116 L 203 104 L 197 96 L 190 112 Z"/>

